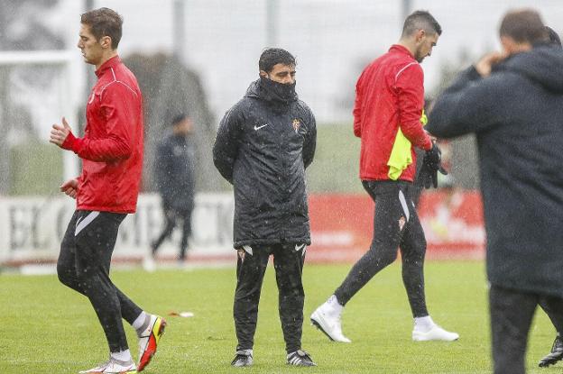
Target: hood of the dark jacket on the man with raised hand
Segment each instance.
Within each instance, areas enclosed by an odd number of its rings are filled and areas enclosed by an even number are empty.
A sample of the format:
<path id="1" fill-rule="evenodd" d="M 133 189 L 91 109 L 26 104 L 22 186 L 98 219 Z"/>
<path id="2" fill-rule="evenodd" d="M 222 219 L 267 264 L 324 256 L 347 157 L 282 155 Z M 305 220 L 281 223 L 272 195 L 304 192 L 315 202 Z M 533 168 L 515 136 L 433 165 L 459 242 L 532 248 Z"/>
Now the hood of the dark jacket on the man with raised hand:
<path id="1" fill-rule="evenodd" d="M 551 92 L 563 93 L 563 50 L 558 46 L 540 46 L 518 53 L 499 68 L 517 72 Z"/>

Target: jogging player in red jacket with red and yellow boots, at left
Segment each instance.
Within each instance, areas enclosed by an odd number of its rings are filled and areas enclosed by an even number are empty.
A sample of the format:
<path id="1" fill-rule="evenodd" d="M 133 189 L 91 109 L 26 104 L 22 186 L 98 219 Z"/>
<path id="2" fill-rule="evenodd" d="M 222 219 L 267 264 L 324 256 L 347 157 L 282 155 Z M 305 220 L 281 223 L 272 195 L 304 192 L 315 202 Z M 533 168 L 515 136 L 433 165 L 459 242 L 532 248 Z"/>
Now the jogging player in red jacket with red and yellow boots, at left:
<path id="1" fill-rule="evenodd" d="M 134 213 L 143 169 L 143 97 L 133 73 L 117 55 L 123 19 L 107 8 L 82 14 L 78 48 L 96 66 L 97 83 L 86 107 L 84 137 L 69 123 L 53 124 L 51 142 L 82 160 L 80 177 L 60 186 L 77 209 L 60 244 L 60 282 L 87 296 L 109 345 L 110 358 L 81 373 L 134 373 L 152 359 L 166 322 L 136 306 L 109 278 L 119 224 Z M 122 318 L 139 337 L 138 368 Z"/>

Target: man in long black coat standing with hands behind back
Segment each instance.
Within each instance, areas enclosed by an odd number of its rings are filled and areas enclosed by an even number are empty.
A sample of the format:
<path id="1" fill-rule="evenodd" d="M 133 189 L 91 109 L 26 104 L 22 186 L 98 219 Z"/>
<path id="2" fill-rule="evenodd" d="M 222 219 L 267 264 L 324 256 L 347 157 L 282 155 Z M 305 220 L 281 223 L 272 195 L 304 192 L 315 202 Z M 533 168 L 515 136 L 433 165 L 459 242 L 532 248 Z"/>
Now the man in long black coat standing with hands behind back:
<path id="1" fill-rule="evenodd" d="M 301 273 L 310 244 L 305 169 L 315 154 L 315 118 L 295 93 L 295 59 L 264 50 L 260 78 L 229 109 L 217 132 L 213 160 L 235 188 L 234 248 L 238 254 L 233 366 L 253 363 L 254 332 L 270 255 L 279 289 L 287 363 L 313 366 L 301 351 Z"/>

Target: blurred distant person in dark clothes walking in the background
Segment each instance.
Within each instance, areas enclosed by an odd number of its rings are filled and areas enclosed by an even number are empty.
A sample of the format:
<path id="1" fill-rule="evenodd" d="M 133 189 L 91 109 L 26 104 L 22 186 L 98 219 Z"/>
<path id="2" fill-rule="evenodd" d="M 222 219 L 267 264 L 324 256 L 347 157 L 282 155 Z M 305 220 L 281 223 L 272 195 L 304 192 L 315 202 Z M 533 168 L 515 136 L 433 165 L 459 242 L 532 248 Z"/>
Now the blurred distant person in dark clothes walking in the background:
<path id="1" fill-rule="evenodd" d="M 162 211 L 166 223 L 162 233 L 152 242 L 152 256 L 162 242 L 171 236 L 178 221 L 181 221 L 182 236 L 178 259 L 186 258 L 191 236 L 191 213 L 194 208 L 194 145 L 191 141 L 193 123 L 188 114 L 173 118 L 172 133 L 156 151 L 154 172 L 158 191 L 162 199 Z"/>

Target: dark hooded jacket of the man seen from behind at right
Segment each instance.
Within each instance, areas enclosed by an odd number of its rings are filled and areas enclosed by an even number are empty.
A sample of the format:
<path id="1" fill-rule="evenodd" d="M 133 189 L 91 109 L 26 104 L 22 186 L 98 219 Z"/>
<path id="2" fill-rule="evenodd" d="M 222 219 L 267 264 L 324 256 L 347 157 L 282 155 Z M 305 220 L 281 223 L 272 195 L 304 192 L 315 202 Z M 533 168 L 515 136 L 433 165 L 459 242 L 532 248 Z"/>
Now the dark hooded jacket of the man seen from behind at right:
<path id="1" fill-rule="evenodd" d="M 461 74 L 427 129 L 475 132 L 492 284 L 563 297 L 563 50 L 521 52 Z"/>

